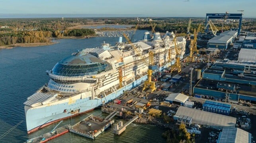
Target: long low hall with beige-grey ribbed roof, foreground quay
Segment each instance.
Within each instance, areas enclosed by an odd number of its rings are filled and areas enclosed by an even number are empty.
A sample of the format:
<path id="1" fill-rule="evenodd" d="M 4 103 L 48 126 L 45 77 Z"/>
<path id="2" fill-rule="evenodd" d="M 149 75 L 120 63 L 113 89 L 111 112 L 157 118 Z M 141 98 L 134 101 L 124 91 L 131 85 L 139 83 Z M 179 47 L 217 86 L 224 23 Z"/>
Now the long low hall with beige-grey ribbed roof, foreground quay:
<path id="1" fill-rule="evenodd" d="M 180 116 L 180 115 L 191 117 L 193 119 L 192 124 L 215 126 L 217 128 L 223 128 L 223 127 L 234 128 L 236 125 L 236 118 L 234 117 L 197 110 L 197 109 L 191 109 L 183 106 L 179 107 L 178 111 L 175 114 L 175 116 Z"/>

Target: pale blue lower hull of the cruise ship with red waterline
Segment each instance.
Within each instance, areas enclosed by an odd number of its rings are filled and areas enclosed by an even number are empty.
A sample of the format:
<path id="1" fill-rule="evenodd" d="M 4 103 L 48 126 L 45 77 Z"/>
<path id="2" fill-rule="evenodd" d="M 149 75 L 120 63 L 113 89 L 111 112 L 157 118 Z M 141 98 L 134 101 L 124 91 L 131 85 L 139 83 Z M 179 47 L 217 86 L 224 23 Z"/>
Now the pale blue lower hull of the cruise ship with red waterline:
<path id="1" fill-rule="evenodd" d="M 123 94 L 124 91 L 131 90 L 139 86 L 143 81 L 147 80 L 147 76 L 143 76 L 127 86 L 118 89 L 117 91 L 106 95 L 101 99 L 91 99 L 91 97 L 87 97 L 84 99 L 77 99 L 74 103 L 61 103 L 51 106 L 38 106 L 38 107 L 28 107 L 25 106 L 25 116 L 26 116 L 26 124 L 27 124 L 27 133 L 32 133 L 40 128 L 58 122 L 60 120 L 70 118 L 72 116 L 76 116 L 78 114 L 82 114 L 84 112 L 92 111 L 96 107 L 101 106 L 104 103 L 108 103 L 113 99 L 119 97 Z M 78 111 L 79 110 L 79 111 Z M 70 111 L 78 111 L 72 114 Z"/>

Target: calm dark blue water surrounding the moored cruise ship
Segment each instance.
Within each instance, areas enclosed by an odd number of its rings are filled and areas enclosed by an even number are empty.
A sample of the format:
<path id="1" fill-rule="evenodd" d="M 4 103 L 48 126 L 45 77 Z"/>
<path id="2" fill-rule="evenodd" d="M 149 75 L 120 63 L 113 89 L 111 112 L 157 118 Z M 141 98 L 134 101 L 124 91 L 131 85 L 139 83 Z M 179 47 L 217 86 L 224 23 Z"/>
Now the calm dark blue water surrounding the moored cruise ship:
<path id="1" fill-rule="evenodd" d="M 134 37 L 139 39 L 139 37 L 143 36 L 144 32 L 137 31 Z M 3 135 L 21 120 L 24 120 L 20 126 L 0 139 L 0 143 L 22 143 L 29 138 L 37 137 L 45 132 L 51 131 L 57 123 L 27 135 L 23 103 L 27 97 L 48 82 L 49 77 L 46 75 L 46 70 L 52 69 L 58 61 L 71 55 L 71 53 L 84 48 L 101 46 L 103 41 L 114 45 L 118 41 L 118 37 L 58 39 L 55 42 L 60 42 L 59 44 L 49 46 L 17 47 L 0 50 L 0 135 Z M 102 117 L 106 116 L 100 109 L 96 109 L 90 113 Z M 72 119 L 64 120 L 60 126 L 68 123 L 73 124 L 86 116 L 88 115 L 83 114 Z M 49 143 L 166 142 L 161 137 L 164 129 L 150 125 L 131 124 L 120 136 L 113 135 L 112 130 L 112 128 L 109 128 L 94 141 L 72 133 L 66 133 L 57 139 L 49 141 Z"/>

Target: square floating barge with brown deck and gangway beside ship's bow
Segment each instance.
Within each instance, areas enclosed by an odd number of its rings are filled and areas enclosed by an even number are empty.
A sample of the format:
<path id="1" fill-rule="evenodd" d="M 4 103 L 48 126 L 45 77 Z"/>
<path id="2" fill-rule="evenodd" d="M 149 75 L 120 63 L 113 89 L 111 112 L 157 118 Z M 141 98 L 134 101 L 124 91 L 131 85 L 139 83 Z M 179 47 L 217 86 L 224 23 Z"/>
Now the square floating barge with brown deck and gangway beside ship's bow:
<path id="1" fill-rule="evenodd" d="M 116 112 L 109 114 L 105 120 L 90 115 L 72 126 L 69 131 L 84 137 L 95 139 L 98 135 L 100 135 L 100 133 L 104 132 L 104 130 L 114 123 L 114 120 L 111 120 L 111 118 L 115 116 L 115 114 Z"/>

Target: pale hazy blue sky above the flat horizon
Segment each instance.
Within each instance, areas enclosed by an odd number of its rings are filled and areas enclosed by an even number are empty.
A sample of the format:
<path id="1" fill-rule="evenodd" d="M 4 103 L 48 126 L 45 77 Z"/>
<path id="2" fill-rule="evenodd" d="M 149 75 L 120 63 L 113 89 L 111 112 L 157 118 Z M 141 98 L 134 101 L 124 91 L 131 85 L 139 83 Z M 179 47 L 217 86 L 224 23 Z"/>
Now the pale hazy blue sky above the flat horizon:
<path id="1" fill-rule="evenodd" d="M 0 18 L 12 14 L 83 14 L 127 17 L 205 17 L 240 13 L 256 18 L 256 0 L 0 0 Z"/>

